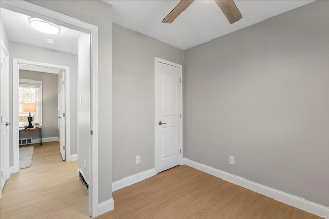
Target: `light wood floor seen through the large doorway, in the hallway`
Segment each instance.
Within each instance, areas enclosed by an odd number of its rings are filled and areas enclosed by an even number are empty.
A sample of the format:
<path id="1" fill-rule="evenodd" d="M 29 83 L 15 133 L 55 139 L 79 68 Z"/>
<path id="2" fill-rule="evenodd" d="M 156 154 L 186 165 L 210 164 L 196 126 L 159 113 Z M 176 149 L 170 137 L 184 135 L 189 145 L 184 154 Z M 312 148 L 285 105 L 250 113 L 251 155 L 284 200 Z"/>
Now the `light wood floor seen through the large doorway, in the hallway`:
<path id="1" fill-rule="evenodd" d="M 0 218 L 90 218 L 78 162 L 65 162 L 58 142 L 33 144 L 32 166 L 14 173 L 0 200 Z"/>

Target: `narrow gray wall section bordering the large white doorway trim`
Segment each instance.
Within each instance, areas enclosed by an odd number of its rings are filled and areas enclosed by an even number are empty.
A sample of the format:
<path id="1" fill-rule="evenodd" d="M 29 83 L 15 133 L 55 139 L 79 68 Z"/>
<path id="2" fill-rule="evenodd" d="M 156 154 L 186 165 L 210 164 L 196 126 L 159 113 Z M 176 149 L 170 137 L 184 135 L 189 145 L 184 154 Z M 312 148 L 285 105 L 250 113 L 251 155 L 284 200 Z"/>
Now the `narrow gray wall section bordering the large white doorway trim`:
<path id="1" fill-rule="evenodd" d="M 112 198 L 112 8 L 95 1 L 38 1 L 33 4 L 98 26 L 99 202 Z"/>

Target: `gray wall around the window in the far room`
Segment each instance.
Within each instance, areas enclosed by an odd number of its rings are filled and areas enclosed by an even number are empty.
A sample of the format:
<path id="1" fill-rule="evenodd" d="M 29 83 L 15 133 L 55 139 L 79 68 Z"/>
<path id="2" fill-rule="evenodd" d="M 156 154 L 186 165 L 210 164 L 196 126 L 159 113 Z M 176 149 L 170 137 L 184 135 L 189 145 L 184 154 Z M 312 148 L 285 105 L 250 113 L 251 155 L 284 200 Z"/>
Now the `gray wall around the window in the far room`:
<path id="1" fill-rule="evenodd" d="M 58 137 L 57 74 L 20 70 L 20 79 L 42 81 L 42 137 Z M 40 139 L 39 131 L 20 131 L 20 138 Z"/>

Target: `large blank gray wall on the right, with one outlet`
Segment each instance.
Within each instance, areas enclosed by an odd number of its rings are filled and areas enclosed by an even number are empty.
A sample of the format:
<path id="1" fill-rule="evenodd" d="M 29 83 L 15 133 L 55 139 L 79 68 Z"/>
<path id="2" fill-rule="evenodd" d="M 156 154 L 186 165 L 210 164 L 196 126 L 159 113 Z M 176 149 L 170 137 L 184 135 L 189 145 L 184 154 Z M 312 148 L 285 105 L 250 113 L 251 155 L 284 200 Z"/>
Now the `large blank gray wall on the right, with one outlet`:
<path id="1" fill-rule="evenodd" d="M 186 158 L 329 206 L 328 11 L 316 1 L 185 51 Z"/>

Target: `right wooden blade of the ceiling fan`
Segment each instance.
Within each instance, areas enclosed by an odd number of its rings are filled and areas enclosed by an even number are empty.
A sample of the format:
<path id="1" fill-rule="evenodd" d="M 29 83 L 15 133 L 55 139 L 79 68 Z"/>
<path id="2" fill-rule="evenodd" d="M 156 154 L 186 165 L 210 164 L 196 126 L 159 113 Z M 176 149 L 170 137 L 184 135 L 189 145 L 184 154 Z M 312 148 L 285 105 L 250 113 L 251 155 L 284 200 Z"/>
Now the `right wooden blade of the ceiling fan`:
<path id="1" fill-rule="evenodd" d="M 242 15 L 233 0 L 215 0 L 230 24 L 239 21 Z"/>

